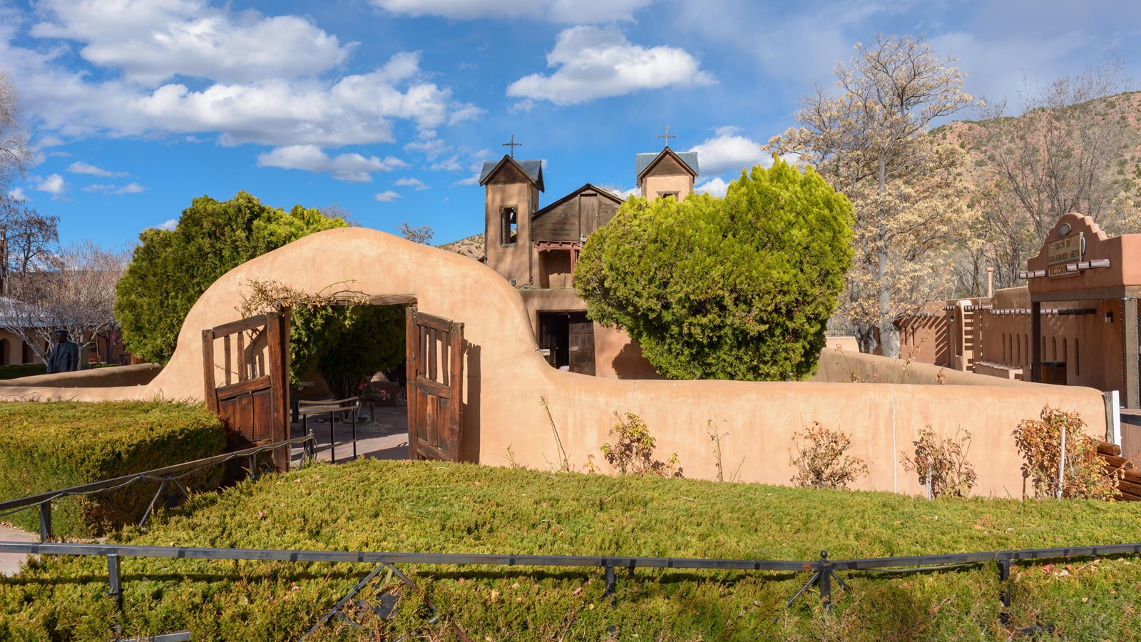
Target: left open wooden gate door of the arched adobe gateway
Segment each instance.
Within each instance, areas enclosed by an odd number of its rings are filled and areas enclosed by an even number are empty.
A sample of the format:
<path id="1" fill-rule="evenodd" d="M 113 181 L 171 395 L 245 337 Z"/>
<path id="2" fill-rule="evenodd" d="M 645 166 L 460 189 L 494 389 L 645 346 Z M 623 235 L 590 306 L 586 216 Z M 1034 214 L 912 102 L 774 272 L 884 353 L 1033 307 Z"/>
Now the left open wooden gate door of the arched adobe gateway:
<path id="1" fill-rule="evenodd" d="M 217 340 L 222 346 L 220 363 L 215 361 Z M 202 330 L 202 356 L 207 408 L 226 424 L 227 450 L 289 439 L 285 314 L 270 312 Z M 289 470 L 285 447 L 274 450 L 273 465 Z"/>

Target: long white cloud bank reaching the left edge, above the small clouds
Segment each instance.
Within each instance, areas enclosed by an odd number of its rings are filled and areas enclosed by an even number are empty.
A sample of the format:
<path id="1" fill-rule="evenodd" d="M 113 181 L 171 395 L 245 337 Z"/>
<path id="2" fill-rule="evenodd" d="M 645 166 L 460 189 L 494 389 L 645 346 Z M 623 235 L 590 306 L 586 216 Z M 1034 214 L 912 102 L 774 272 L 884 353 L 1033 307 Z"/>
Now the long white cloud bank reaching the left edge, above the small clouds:
<path id="1" fill-rule="evenodd" d="M 170 0 L 176 1 L 176 0 Z M 67 66 L 52 41 L 15 46 L 14 25 L 0 21 L 0 59 L 21 88 L 38 134 L 65 143 L 95 136 L 216 134 L 224 145 L 366 145 L 394 142 L 394 121 L 432 129 L 471 118 L 472 105 L 422 78 L 420 55 L 402 53 L 367 73 L 338 79 L 265 78 L 249 82 L 169 82 L 144 87 Z"/>

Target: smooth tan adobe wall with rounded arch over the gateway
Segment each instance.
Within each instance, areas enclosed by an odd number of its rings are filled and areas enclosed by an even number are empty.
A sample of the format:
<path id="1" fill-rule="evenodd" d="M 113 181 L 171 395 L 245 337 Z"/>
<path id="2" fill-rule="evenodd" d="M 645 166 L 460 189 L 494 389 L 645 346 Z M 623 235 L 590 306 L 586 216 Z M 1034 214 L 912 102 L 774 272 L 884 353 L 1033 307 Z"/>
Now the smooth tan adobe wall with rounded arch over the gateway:
<path id="1" fill-rule="evenodd" d="M 745 383 L 615 380 L 563 372 L 539 353 L 523 298 L 502 276 L 467 257 L 396 236 L 349 227 L 329 230 L 235 267 L 194 305 L 168 366 L 145 386 L 10 387 L 6 399 L 202 399 L 203 328 L 235 321 L 251 280 L 276 279 L 306 292 L 353 280 L 365 294 L 415 295 L 421 311 L 464 322 L 464 458 L 505 465 L 510 447 L 518 463 L 547 468 L 557 460 L 556 440 L 542 401 L 581 470 L 610 440 L 612 412 L 634 412 L 657 438 L 662 458 L 677 451 L 686 476 L 713 479 L 715 457 L 706 426 L 728 432 L 722 459 L 739 480 L 788 483 L 792 435 L 814 420 L 851 435 L 851 452 L 868 462 L 863 489 L 919 493 L 899 454 L 931 425 L 941 433 L 969 430 L 969 458 L 980 495 L 1021 495 L 1021 459 L 1011 431 L 1037 417 L 1045 404 L 1077 410 L 1090 433 L 1104 434 L 1101 394 L 1078 387 L 1017 385 L 861 385 L 849 383 Z M 981 377 L 980 377 L 981 378 Z M 606 468 L 602 463 L 604 470 Z"/>

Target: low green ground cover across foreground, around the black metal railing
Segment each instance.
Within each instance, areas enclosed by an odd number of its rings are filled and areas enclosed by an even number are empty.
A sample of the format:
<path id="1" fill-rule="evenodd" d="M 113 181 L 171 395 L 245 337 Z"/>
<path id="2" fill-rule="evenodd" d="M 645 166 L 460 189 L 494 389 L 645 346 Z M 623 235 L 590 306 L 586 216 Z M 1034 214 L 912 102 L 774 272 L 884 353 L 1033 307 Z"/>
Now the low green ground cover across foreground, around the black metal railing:
<path id="1" fill-rule="evenodd" d="M 815 560 L 1114 544 L 1141 506 L 938 499 L 884 492 L 362 460 L 267 475 L 167 513 L 131 544 Z M 102 557 L 46 559 L 0 580 L 0 639 L 106 640 L 189 628 L 200 640 L 297 639 L 371 569 L 362 564 L 126 559 L 124 610 Z M 1050 624 L 1066 640 L 1139 640 L 1141 559 L 1022 563 L 1011 629 L 995 564 L 843 573 L 825 611 L 808 572 L 638 570 L 617 605 L 600 569 L 406 567 L 472 640 L 994 640 Z M 395 584 L 390 586 L 396 588 Z M 453 639 L 403 592 L 397 616 L 322 640 Z M 610 629 L 613 627 L 613 631 Z"/>

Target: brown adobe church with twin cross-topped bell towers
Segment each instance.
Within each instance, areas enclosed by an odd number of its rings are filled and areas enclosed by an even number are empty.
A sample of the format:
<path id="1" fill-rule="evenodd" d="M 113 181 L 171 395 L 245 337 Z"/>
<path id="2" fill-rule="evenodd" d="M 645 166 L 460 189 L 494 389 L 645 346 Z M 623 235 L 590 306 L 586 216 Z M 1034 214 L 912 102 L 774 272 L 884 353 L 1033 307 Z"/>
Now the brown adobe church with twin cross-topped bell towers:
<path id="1" fill-rule="evenodd" d="M 665 147 L 637 154 L 638 188 L 648 199 L 685 199 L 698 176 L 697 152 Z M 513 152 L 515 143 L 512 136 Z M 575 296 L 575 263 L 586 236 L 617 214 L 622 198 L 586 183 L 540 208 L 543 167 L 537 160 L 507 154 L 485 162 L 484 242 L 487 265 L 511 282 L 527 306 L 539 347 L 555 368 L 620 379 L 661 376 L 625 332 L 586 318 L 586 302 Z"/>

